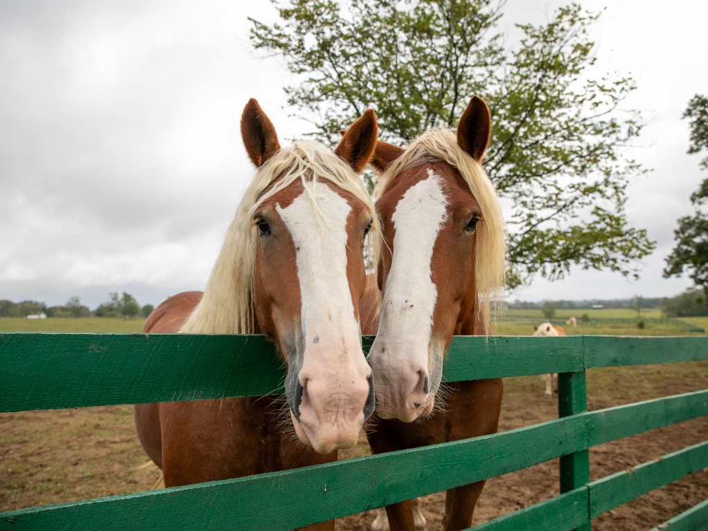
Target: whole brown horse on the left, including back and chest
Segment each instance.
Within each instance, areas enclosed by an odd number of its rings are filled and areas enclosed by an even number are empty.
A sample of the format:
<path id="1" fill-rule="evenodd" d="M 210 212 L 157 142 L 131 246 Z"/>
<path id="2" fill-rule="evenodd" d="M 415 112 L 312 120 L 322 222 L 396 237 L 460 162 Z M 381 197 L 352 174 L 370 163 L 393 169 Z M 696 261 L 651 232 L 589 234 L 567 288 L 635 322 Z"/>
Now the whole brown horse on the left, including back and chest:
<path id="1" fill-rule="evenodd" d="M 144 331 L 265 333 L 287 366 L 290 415 L 270 396 L 136 405 L 140 442 L 165 486 L 334 461 L 374 409 L 359 301 L 362 247 L 378 224 L 357 173 L 375 149 L 376 117 L 367 110 L 334 153 L 319 142 L 281 149 L 251 100 L 241 135 L 257 171 L 205 292 L 163 302 Z"/>

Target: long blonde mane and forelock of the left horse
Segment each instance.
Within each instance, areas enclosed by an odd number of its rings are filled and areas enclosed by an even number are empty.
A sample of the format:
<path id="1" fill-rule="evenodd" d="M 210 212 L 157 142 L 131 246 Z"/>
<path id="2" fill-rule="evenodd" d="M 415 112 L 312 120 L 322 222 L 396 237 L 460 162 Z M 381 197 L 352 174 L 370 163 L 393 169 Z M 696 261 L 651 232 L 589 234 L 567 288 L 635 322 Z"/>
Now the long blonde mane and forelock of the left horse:
<path id="1" fill-rule="evenodd" d="M 276 179 L 278 181 L 273 184 Z M 302 183 L 314 211 L 319 215 L 318 219 L 322 219 L 324 224 L 327 221 L 316 202 L 316 187 L 323 180 L 346 190 L 367 205 L 374 219 L 371 232 L 379 234 L 378 219 L 369 193 L 362 179 L 345 161 L 319 142 L 295 142 L 292 147 L 280 149 L 256 171 L 246 188 L 224 236 L 204 296 L 181 332 L 253 333 L 256 324 L 253 279 L 258 238 L 253 214 L 263 201 L 296 180 Z M 377 238 L 370 241 L 375 242 Z"/>

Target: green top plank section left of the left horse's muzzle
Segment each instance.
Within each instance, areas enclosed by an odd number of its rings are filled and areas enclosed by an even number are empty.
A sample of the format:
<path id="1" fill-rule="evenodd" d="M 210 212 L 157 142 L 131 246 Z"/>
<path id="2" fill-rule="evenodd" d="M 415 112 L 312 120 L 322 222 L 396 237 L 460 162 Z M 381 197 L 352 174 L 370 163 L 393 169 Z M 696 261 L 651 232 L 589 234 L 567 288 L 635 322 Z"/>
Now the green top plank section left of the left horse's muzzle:
<path id="1" fill-rule="evenodd" d="M 264 336 L 0 333 L 0 411 L 282 392 Z"/>

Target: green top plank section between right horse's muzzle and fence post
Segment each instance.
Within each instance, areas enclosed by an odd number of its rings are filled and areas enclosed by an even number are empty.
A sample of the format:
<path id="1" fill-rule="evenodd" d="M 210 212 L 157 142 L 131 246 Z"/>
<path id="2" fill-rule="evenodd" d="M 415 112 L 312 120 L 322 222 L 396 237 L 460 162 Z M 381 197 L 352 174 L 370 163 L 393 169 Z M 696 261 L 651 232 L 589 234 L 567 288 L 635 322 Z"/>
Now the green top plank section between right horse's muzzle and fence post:
<path id="1" fill-rule="evenodd" d="M 583 336 L 452 336 L 442 378 L 447 382 L 583 370 Z"/>

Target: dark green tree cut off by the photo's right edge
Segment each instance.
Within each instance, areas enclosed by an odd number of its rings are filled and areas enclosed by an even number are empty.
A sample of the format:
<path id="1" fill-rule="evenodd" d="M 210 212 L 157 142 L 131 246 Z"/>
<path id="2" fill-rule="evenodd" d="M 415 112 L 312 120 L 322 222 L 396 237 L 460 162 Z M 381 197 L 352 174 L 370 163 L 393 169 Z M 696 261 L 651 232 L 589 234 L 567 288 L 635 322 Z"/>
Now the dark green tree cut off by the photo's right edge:
<path id="1" fill-rule="evenodd" d="M 683 113 L 684 118 L 693 118 L 690 122 L 691 144 L 689 153 L 699 153 L 708 150 L 708 98 L 696 94 L 688 102 L 688 108 Z M 708 168 L 708 157 L 700 163 L 702 169 Z M 664 277 L 683 275 L 684 268 L 690 270 L 693 283 L 702 287 L 708 296 L 708 216 L 702 212 L 708 201 L 708 178 L 691 194 L 691 202 L 695 208 L 694 215 L 678 220 L 678 229 L 674 231 L 677 244 L 670 255 L 666 257 Z"/>

